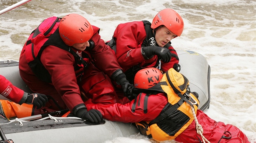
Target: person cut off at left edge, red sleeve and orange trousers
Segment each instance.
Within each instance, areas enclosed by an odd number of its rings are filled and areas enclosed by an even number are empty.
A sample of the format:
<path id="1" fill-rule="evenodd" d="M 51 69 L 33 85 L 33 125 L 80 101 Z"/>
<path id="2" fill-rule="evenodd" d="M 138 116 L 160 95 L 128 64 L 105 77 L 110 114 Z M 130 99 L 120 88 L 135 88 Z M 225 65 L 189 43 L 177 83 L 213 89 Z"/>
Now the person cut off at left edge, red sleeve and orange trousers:
<path id="1" fill-rule="evenodd" d="M 31 110 L 28 112 L 24 112 L 26 109 L 30 109 L 35 105 L 37 108 L 41 108 L 46 105 L 48 99 L 46 95 L 40 93 L 26 93 L 14 86 L 9 80 L 7 80 L 4 76 L 0 75 L 0 94 L 9 100 L 0 100 L 0 114 L 9 120 L 11 116 L 16 116 L 17 118 L 23 116 L 30 116 Z M 20 108 L 20 105 L 23 105 Z M 18 108 L 19 110 L 10 111 L 10 107 Z"/>

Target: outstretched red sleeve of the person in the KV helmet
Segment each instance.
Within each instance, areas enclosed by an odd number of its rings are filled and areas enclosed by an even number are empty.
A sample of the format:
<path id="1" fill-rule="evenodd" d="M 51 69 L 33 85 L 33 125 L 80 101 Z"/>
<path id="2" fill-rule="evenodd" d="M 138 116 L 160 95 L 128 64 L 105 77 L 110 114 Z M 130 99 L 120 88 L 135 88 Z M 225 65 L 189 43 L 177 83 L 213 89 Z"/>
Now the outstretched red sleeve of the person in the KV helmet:
<path id="1" fill-rule="evenodd" d="M 137 96 L 137 100 L 132 100 L 130 103 L 124 105 L 120 103 L 115 104 L 86 104 L 87 109 L 98 109 L 103 118 L 118 122 L 140 122 L 151 121 L 155 119 L 167 104 L 167 97 L 161 93 L 158 95 L 150 95 L 148 97 L 147 106 L 144 107 L 145 95 L 142 93 Z M 133 109 L 133 110 L 132 110 Z M 147 110 L 145 113 L 144 111 Z"/>

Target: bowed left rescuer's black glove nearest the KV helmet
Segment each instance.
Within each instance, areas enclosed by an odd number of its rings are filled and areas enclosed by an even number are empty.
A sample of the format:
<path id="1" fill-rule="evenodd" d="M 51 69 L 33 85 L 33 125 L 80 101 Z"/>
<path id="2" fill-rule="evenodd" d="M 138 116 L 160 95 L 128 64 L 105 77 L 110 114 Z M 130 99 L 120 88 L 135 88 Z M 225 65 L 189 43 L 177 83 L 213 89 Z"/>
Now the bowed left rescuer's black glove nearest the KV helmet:
<path id="1" fill-rule="evenodd" d="M 117 76 L 116 82 L 117 84 L 122 86 L 125 95 L 127 94 L 128 89 L 134 88 L 134 86 L 130 84 L 128 80 L 126 80 L 126 76 L 124 73 L 121 73 Z"/>

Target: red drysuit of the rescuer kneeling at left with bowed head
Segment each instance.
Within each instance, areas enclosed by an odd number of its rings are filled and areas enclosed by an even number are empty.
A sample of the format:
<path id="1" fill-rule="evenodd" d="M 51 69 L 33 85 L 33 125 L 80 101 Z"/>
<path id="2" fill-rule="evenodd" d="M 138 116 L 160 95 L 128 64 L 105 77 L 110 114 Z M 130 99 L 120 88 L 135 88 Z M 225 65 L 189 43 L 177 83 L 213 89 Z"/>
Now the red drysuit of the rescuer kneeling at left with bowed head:
<path id="1" fill-rule="evenodd" d="M 55 25 L 55 27 L 53 30 L 58 30 L 58 26 Z M 57 46 L 50 45 L 43 49 L 40 61 L 49 72 L 52 82 L 43 82 L 35 76 L 28 65 L 26 60 L 28 57 L 26 56 L 30 53 L 26 53 L 26 50 L 31 51 L 31 49 L 28 49 L 27 42 L 25 43 L 20 55 L 20 75 L 33 92 L 51 96 L 51 99 L 49 99 L 50 104 L 47 107 L 42 107 L 39 111 L 35 110 L 34 114 L 44 113 L 43 109 L 50 112 L 68 108 L 71 112 L 74 112 L 81 107 L 85 107 L 80 96 L 80 90 L 93 98 L 94 103 L 117 102 L 117 95 L 109 77 L 115 71 L 121 69 L 121 67 L 117 63 L 113 50 L 105 45 L 104 40 L 101 39 L 98 33 L 100 29 L 95 26 L 92 27 L 93 36 L 90 40 L 95 44 L 93 49 L 88 52 L 71 47 L 75 53 L 82 56 L 88 62 L 83 76 L 76 76 L 82 68 L 79 67 L 71 53 Z M 54 34 L 59 34 L 59 32 L 54 32 Z M 30 35 L 30 37 L 32 36 Z M 41 47 L 35 44 L 34 50 L 38 50 L 37 48 Z M 84 57 L 85 53 L 87 53 L 87 57 Z"/>

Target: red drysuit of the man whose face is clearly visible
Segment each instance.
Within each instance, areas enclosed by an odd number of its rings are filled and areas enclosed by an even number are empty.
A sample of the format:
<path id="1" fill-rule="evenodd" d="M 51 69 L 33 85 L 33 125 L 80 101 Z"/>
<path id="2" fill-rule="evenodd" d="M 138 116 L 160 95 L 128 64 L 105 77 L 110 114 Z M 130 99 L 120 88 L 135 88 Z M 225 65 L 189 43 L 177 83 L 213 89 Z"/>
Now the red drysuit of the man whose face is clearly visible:
<path id="1" fill-rule="evenodd" d="M 151 59 L 145 60 L 141 54 L 141 44 L 146 38 L 143 21 L 119 24 L 115 29 L 113 38 L 116 42 L 117 60 L 124 71 L 138 64 L 141 67 L 154 67 L 156 65 L 156 55 Z M 169 46 L 169 50 L 177 55 L 176 50 L 172 46 Z M 169 63 L 162 62 L 161 69 L 166 72 L 171 67 L 174 67 L 175 63 L 178 64 L 178 62 L 178 59 L 171 57 Z"/>

